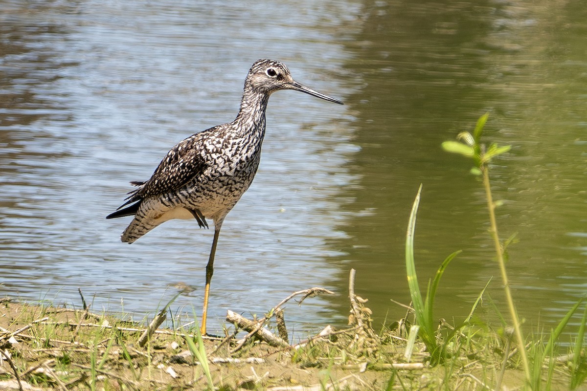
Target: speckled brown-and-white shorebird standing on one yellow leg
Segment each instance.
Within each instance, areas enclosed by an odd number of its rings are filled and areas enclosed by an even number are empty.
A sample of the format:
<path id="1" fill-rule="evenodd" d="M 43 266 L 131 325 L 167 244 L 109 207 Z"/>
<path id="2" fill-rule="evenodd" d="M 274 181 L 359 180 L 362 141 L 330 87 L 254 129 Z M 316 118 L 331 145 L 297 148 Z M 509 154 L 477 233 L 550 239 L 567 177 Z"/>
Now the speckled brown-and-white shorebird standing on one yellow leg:
<path id="1" fill-rule="evenodd" d="M 201 334 L 206 334 L 210 282 L 220 227 L 257 172 L 265 136 L 265 110 L 269 96 L 279 90 L 296 90 L 343 104 L 295 81 L 284 63 L 261 59 L 252 64 L 242 93 L 237 118 L 191 135 L 167 152 L 148 181 L 137 186 L 107 219 L 134 216 L 121 240 L 133 243 L 154 227 L 171 219 L 195 219 L 208 228 L 214 221 L 214 239 L 206 266 Z M 130 206 L 127 206 L 130 205 Z M 126 206 L 126 208 L 124 208 Z M 122 209 L 124 208 L 124 209 Z"/>

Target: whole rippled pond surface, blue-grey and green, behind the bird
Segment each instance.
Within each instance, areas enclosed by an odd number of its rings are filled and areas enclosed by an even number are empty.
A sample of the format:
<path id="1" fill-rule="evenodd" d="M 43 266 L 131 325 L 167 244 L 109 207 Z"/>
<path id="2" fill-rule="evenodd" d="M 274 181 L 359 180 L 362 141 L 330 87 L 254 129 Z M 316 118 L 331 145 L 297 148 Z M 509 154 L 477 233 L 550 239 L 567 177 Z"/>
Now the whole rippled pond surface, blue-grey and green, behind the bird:
<path id="1" fill-rule="evenodd" d="M 305 332 L 343 324 L 351 267 L 377 323 L 404 315 L 411 202 L 422 282 L 455 250 L 437 317 L 477 294 L 502 305 L 480 183 L 440 143 L 490 111 L 511 144 L 491 175 L 513 294 L 529 325 L 552 325 L 587 288 L 587 42 L 579 2 L 1 1 L 0 294 L 93 310 L 199 313 L 212 232 L 167 222 L 129 246 L 104 217 L 176 142 L 237 113 L 255 60 L 301 83 L 271 97 L 261 168 L 222 227 L 210 321 L 291 305 Z M 490 305 L 485 304 L 480 315 Z M 505 311 L 504 311 L 505 312 Z"/>

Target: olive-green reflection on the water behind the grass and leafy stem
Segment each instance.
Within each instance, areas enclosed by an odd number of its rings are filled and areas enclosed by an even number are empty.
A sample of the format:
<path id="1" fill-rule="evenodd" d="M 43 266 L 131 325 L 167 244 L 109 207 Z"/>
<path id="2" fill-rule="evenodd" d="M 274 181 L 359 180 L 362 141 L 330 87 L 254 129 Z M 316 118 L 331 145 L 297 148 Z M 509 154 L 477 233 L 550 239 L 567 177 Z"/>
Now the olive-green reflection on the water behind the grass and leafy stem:
<path id="1" fill-rule="evenodd" d="M 404 235 L 420 183 L 421 283 L 463 250 L 444 275 L 437 317 L 462 319 L 491 276 L 488 294 L 501 306 L 481 184 L 469 162 L 440 149 L 485 111 L 487 140 L 513 145 L 491 174 L 504 201 L 501 236 L 519 239 L 509 270 L 522 317 L 552 324 L 585 294 L 586 13 L 579 1 L 365 2 L 346 63 L 361 147 L 348 168 L 360 179 L 340 195 L 360 217 L 331 244 L 346 253 L 332 260 L 348 266 L 340 291 L 356 268 L 357 293 L 377 321 L 405 313 L 390 298 L 409 302 Z"/>

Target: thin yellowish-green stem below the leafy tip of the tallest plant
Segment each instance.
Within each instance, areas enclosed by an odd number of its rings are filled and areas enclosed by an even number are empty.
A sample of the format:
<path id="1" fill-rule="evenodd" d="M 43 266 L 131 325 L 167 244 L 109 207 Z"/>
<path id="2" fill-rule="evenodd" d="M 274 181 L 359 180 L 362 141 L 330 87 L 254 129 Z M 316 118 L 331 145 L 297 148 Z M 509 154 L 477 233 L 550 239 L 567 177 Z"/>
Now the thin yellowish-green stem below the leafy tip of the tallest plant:
<path id="1" fill-rule="evenodd" d="M 505 270 L 504 254 L 501 248 L 500 236 L 497 232 L 497 222 L 495 220 L 495 203 L 491 196 L 491 185 L 489 182 L 489 168 L 487 165 L 481 165 L 481 173 L 483 174 L 483 185 L 485 186 L 485 194 L 487 195 L 487 208 L 489 209 L 489 220 L 491 224 L 491 236 L 495 244 L 495 253 L 497 253 L 497 263 L 500 265 L 501 280 L 504 283 L 505 299 L 508 303 L 512 322 L 514 323 L 514 331 L 518 339 L 518 352 L 522 358 L 522 365 L 524 366 L 524 373 L 528 384 L 530 383 L 531 373 L 528 363 L 528 356 L 526 354 L 526 342 L 522 335 L 522 330 L 519 325 L 518 312 L 515 310 L 514 300 L 510 291 L 510 283 L 508 282 L 508 274 Z"/>

